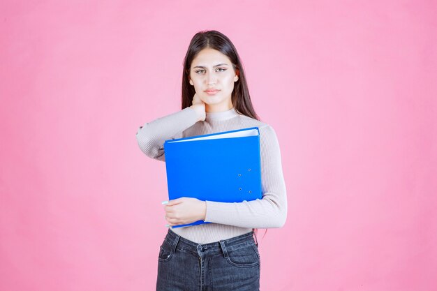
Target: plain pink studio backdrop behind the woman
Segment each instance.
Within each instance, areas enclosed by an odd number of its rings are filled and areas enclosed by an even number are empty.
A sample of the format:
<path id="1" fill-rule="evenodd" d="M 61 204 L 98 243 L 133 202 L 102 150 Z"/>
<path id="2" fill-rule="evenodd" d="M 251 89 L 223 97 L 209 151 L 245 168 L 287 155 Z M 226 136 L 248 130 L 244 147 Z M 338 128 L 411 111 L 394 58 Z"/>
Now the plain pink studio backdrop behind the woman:
<path id="1" fill-rule="evenodd" d="M 110 2 L 110 3 L 108 3 Z M 203 29 L 281 144 L 262 290 L 436 290 L 435 1 L 1 1 L 0 290 L 154 290 L 165 164 Z"/>

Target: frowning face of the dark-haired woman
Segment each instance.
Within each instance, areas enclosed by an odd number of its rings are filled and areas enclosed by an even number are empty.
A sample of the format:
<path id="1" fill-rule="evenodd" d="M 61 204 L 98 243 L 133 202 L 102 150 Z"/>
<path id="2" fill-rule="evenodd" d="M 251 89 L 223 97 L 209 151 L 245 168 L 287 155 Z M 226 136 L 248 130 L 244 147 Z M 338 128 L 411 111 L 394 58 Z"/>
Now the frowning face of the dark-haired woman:
<path id="1" fill-rule="evenodd" d="M 232 90 L 238 75 L 225 54 L 212 48 L 201 50 L 191 62 L 189 79 L 207 111 L 232 108 Z"/>

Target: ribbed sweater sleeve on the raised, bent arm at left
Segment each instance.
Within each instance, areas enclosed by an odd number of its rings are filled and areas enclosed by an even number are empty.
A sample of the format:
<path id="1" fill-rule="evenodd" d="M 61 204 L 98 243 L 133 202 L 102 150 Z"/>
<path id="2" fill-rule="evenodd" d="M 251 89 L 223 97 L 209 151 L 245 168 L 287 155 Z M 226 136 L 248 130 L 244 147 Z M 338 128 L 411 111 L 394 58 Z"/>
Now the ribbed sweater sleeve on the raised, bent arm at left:
<path id="1" fill-rule="evenodd" d="M 165 161 L 165 140 L 182 137 L 182 132 L 197 122 L 191 107 L 145 123 L 138 128 L 136 137 L 141 151 L 158 161 Z"/>

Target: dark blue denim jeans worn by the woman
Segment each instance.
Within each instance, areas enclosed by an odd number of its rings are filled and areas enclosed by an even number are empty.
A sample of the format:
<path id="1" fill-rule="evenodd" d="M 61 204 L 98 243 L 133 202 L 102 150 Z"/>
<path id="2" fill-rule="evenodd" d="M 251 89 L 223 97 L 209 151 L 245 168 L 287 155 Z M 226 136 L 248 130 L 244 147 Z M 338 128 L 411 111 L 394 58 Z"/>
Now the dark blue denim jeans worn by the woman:
<path id="1" fill-rule="evenodd" d="M 169 229 L 158 255 L 156 290 L 260 290 L 260 253 L 253 231 L 196 244 Z"/>

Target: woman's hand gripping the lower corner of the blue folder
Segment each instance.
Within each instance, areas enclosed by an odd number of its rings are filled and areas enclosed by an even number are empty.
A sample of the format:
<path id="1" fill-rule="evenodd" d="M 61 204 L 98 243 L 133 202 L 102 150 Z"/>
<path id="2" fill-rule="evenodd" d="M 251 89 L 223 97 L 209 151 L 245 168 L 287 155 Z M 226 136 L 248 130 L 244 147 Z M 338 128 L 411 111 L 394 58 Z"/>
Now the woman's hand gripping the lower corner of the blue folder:
<path id="1" fill-rule="evenodd" d="M 207 202 L 196 198 L 181 197 L 165 204 L 165 219 L 170 226 L 203 221 L 206 213 Z"/>

